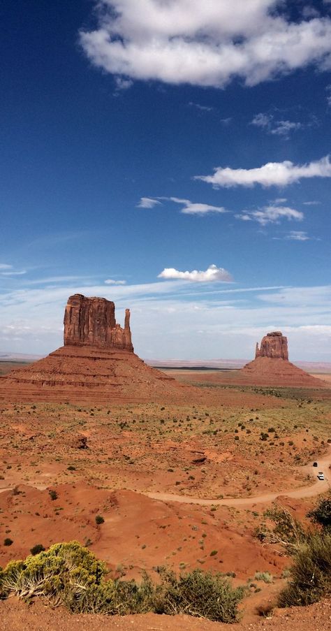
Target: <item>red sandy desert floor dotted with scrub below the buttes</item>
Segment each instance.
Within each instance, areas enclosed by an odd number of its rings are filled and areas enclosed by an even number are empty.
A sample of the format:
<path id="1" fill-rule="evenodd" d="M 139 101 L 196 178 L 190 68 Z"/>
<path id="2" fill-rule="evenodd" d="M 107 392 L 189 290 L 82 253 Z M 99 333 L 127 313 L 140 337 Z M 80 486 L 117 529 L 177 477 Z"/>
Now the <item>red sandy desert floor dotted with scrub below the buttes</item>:
<path id="1" fill-rule="evenodd" d="M 189 372 L 180 379 L 197 384 Z M 206 393 L 208 375 L 200 384 Z M 142 570 L 155 574 L 168 565 L 176 571 L 201 567 L 248 583 L 243 623 L 233 628 L 331 628 L 328 603 L 313 614 L 282 611 L 258 621 L 260 604 L 276 601 L 290 558 L 255 535 L 268 525 L 263 514 L 272 503 L 305 520 L 318 494 L 328 491 L 331 389 L 213 385 L 213 391 L 213 405 L 207 396 L 206 405 L 2 402 L 0 565 L 24 558 L 36 544 L 78 539 L 116 576 L 138 578 Z M 319 470 L 324 483 L 316 479 Z M 97 525 L 96 515 L 104 523 Z M 3 546 L 5 537 L 13 544 Z M 272 583 L 256 580 L 256 572 L 270 572 Z M 19 626 L 24 607 L 2 602 L 1 623 L 13 630 L 54 628 L 47 626 L 52 619 L 47 622 L 46 611 L 43 627 L 36 626 L 39 605 L 24 618 L 26 627 Z M 59 616 L 57 628 L 75 629 L 68 614 Z M 222 628 L 192 618 L 131 618 L 105 621 L 102 628 Z M 80 628 L 99 628 L 80 620 Z"/>

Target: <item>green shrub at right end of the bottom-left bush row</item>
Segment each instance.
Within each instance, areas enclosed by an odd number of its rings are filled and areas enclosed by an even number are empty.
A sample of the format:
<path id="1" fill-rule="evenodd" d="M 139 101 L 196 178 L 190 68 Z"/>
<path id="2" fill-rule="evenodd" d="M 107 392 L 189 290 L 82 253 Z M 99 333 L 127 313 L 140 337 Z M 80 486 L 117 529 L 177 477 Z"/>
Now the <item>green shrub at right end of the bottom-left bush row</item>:
<path id="1" fill-rule="evenodd" d="M 220 574 L 193 570 L 181 574 L 161 570 L 161 585 L 156 588 L 154 611 L 157 614 L 190 614 L 199 618 L 233 623 L 243 588 L 233 588 Z"/>

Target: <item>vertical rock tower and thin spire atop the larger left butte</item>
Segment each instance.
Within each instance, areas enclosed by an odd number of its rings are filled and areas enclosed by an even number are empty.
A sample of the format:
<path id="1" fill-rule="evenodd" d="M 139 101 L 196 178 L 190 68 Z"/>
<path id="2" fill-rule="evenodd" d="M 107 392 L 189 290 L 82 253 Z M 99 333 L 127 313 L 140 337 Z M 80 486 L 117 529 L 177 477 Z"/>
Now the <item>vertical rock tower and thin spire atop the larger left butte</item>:
<path id="1" fill-rule="evenodd" d="M 105 298 L 87 298 L 75 293 L 64 312 L 64 345 L 94 346 L 133 351 L 130 311 L 124 328 L 116 323 L 115 304 Z"/>

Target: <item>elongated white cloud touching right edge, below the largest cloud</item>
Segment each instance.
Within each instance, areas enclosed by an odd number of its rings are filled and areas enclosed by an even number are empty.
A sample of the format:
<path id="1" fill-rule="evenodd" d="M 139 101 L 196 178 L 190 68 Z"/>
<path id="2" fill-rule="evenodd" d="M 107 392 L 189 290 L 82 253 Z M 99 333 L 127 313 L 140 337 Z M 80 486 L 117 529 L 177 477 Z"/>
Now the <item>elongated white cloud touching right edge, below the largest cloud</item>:
<path id="1" fill-rule="evenodd" d="M 222 168 L 214 169 L 214 175 L 196 175 L 196 180 L 203 180 L 214 187 L 253 187 L 260 184 L 263 187 L 279 186 L 298 182 L 303 177 L 331 177 L 329 156 L 309 164 L 293 164 L 290 160 L 284 162 L 267 162 L 257 168 Z"/>

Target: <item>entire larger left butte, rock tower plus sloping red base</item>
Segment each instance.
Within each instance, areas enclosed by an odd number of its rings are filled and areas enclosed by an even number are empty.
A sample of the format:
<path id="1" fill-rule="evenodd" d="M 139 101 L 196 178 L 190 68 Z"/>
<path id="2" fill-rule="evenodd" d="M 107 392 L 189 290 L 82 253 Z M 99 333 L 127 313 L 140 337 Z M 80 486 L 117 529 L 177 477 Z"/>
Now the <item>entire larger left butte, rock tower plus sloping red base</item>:
<path id="1" fill-rule="evenodd" d="M 0 377 L 0 399 L 25 402 L 183 402 L 192 392 L 134 353 L 128 309 L 122 328 L 113 302 L 81 293 L 68 298 L 64 346 Z"/>

